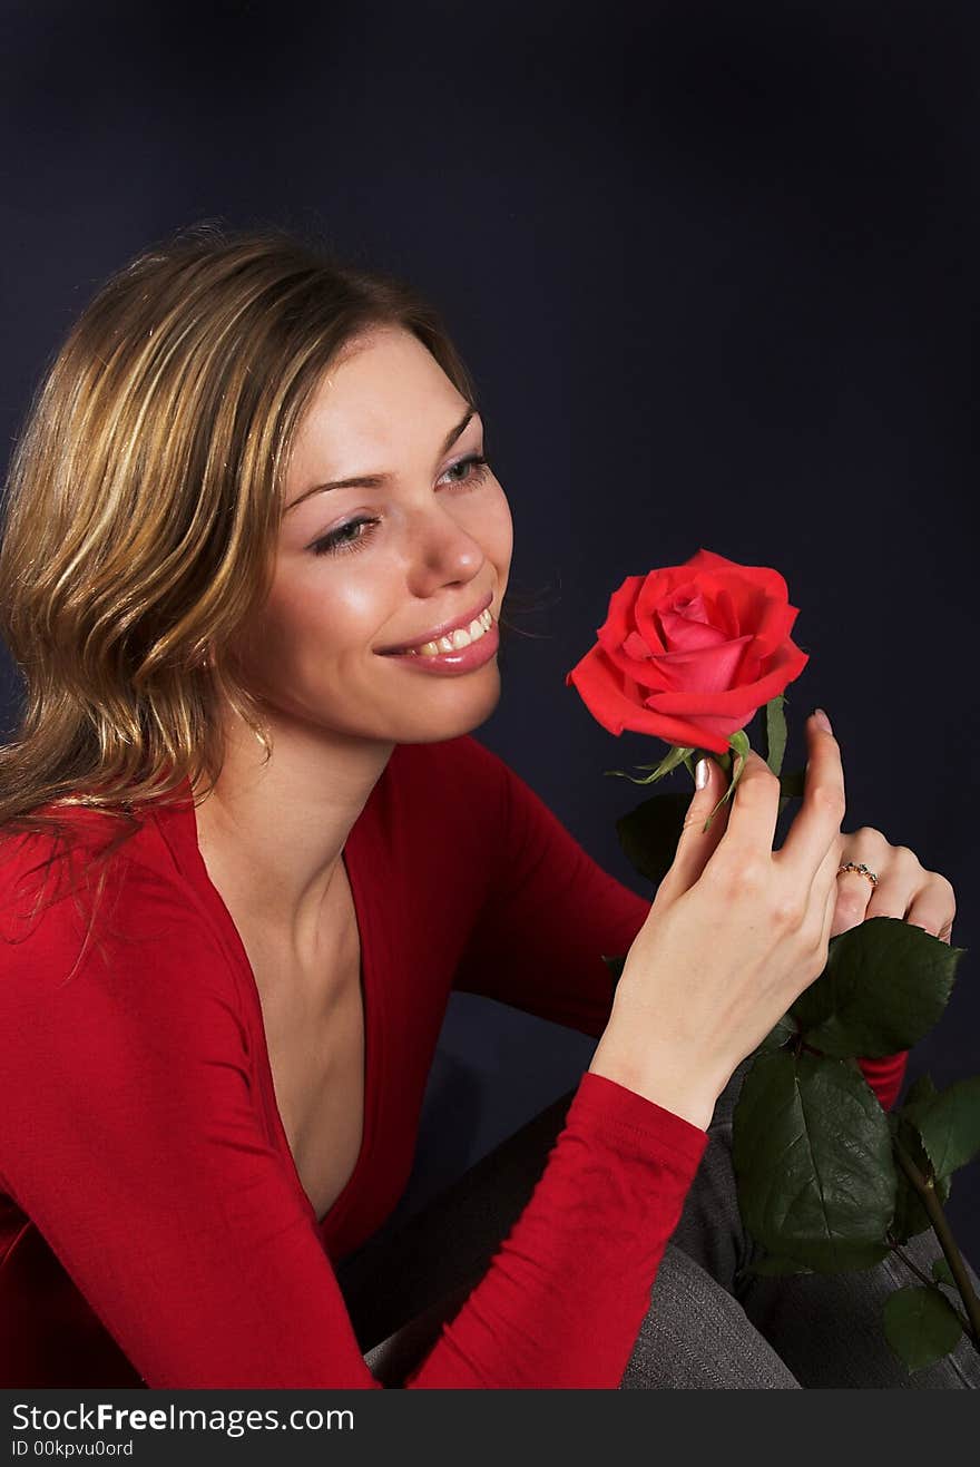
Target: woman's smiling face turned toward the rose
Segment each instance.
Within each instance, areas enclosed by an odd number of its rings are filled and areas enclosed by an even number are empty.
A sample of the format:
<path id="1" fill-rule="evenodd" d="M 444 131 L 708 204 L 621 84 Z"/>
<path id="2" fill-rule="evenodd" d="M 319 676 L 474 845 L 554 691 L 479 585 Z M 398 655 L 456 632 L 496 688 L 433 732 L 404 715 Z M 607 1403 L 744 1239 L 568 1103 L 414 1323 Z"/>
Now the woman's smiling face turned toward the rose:
<path id="1" fill-rule="evenodd" d="M 465 734 L 496 707 L 496 653 L 440 676 L 421 656 L 381 651 L 417 645 L 483 606 L 494 622 L 484 653 L 496 643 L 511 511 L 493 471 L 468 462 L 483 453 L 477 414 L 458 431 L 468 412 L 398 327 L 351 343 L 321 381 L 286 475 L 271 596 L 236 645 L 273 722 L 423 744 Z M 367 475 L 373 487 L 310 493 Z"/>

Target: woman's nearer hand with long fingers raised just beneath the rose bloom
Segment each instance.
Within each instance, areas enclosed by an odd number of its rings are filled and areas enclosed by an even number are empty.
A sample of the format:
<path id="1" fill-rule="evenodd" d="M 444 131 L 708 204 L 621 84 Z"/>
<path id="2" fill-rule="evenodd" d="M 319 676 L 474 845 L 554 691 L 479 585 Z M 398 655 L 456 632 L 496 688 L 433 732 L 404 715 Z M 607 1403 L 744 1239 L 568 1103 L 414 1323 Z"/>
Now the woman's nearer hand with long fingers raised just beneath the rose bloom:
<path id="1" fill-rule="evenodd" d="M 626 954 L 588 1067 L 707 1127 L 735 1067 L 827 962 L 845 811 L 841 750 L 807 720 L 801 808 L 773 851 L 780 785 L 750 750 L 734 798 L 707 758 L 673 864 Z"/>

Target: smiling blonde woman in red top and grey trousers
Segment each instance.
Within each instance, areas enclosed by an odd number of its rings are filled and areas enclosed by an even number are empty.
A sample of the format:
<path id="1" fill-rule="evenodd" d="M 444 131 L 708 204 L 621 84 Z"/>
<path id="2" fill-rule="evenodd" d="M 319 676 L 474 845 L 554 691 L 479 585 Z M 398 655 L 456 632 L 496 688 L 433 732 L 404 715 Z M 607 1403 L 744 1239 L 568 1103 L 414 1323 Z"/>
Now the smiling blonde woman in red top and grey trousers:
<path id="1" fill-rule="evenodd" d="M 808 722 L 779 852 L 757 756 L 701 832 L 707 761 L 641 901 L 471 735 L 511 552 L 472 381 L 402 283 L 198 230 L 70 332 L 0 555 L 4 1385 L 817 1383 L 736 1300 L 767 1288 L 776 1338 L 813 1281 L 747 1273 L 725 1141 L 860 888 L 836 742 Z M 948 927 L 949 883 L 869 838 L 901 914 Z M 600 1043 L 384 1240 L 453 987 Z M 883 1103 L 902 1065 L 867 1062 Z M 854 1383 L 920 1382 L 877 1341 Z"/>

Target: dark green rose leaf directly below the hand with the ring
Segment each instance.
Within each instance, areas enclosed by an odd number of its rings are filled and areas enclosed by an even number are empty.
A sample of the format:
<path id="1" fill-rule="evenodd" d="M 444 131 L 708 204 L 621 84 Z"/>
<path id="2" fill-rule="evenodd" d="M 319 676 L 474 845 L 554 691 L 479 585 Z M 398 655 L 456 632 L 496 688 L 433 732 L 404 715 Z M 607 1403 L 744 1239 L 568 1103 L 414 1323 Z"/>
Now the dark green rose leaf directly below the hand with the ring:
<path id="1" fill-rule="evenodd" d="M 901 917 L 869 917 L 830 939 L 826 968 L 789 1012 L 838 1059 L 911 1049 L 946 1008 L 965 951 Z"/>

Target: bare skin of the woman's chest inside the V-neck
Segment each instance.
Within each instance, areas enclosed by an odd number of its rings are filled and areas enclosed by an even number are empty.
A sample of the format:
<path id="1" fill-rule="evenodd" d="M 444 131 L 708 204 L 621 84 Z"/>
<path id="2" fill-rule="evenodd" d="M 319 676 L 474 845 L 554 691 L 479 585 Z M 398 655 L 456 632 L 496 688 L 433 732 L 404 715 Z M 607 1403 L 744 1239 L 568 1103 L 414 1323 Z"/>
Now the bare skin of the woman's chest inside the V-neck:
<path id="1" fill-rule="evenodd" d="M 354 1172 L 364 1135 L 361 942 L 346 874 L 315 961 L 235 914 L 255 976 L 276 1105 L 317 1221 Z"/>

